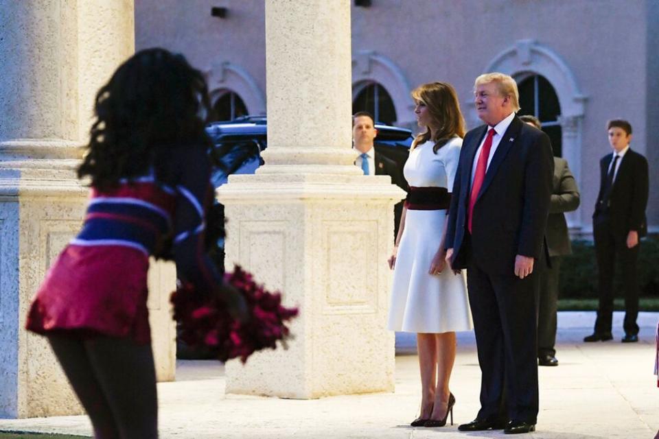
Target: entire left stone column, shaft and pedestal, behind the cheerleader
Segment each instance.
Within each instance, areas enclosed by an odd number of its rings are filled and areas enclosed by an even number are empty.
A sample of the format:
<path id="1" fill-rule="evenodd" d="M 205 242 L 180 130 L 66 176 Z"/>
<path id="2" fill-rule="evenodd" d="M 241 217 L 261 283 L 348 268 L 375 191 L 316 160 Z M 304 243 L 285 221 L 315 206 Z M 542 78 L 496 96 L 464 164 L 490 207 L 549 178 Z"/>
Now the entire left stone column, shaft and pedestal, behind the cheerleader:
<path id="1" fill-rule="evenodd" d="M 87 189 L 75 169 L 95 93 L 134 51 L 133 1 L 0 0 L 0 10 L 0 417 L 77 414 L 45 338 L 23 327 L 47 268 L 80 228 Z M 150 273 L 160 379 L 174 377 L 162 294 L 174 276 L 165 266 Z"/>

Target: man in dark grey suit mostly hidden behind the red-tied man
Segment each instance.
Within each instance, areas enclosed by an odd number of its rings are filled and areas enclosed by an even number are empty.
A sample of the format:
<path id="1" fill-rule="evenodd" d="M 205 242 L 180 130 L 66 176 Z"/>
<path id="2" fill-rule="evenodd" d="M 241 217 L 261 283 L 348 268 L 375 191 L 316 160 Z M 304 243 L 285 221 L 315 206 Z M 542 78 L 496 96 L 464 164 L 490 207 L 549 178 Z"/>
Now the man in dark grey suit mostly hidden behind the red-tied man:
<path id="1" fill-rule="evenodd" d="M 542 128 L 537 117 L 525 115 L 520 120 L 538 130 Z M 579 207 L 579 188 L 564 158 L 554 157 L 554 178 L 547 218 L 546 239 L 549 266 L 540 272 L 540 302 L 537 316 L 537 364 L 558 366 L 556 359 L 556 311 L 561 259 L 572 254 L 565 212 Z"/>

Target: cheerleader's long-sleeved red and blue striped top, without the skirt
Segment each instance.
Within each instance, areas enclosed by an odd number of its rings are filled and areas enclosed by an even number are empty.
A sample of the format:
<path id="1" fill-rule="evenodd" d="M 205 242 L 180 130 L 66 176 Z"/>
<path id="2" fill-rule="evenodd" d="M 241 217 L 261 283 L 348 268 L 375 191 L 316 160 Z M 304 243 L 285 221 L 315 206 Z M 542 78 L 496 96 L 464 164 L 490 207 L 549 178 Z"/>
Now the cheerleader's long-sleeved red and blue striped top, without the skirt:
<path id="1" fill-rule="evenodd" d="M 198 165 L 201 165 L 198 163 Z M 206 256 L 205 201 L 212 187 L 209 171 L 199 166 L 184 173 L 192 187 L 166 185 L 153 176 L 120 180 L 115 189 L 91 189 L 91 200 L 73 246 L 122 246 L 174 259 L 179 278 L 202 289 L 221 282 Z"/>

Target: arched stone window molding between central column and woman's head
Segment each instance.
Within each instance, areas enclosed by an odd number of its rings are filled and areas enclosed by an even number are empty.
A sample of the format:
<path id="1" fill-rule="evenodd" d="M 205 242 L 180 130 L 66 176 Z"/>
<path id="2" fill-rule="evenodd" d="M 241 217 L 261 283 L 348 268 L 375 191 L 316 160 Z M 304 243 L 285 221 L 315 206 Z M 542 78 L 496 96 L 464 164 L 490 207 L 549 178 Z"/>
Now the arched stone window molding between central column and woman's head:
<path id="1" fill-rule="evenodd" d="M 415 123 L 414 102 L 410 85 L 402 69 L 392 60 L 372 50 L 357 51 L 352 59 L 352 99 L 365 86 L 377 82 L 391 96 L 396 110 L 396 125 Z"/>

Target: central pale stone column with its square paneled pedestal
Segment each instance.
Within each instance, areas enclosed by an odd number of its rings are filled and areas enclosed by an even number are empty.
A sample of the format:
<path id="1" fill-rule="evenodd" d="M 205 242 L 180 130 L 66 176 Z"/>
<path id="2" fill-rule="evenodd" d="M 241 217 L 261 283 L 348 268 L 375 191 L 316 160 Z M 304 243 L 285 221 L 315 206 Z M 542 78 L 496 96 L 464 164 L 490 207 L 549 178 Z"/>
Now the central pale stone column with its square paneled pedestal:
<path id="1" fill-rule="evenodd" d="M 386 259 L 404 191 L 354 166 L 350 24 L 349 0 L 266 0 L 266 165 L 218 198 L 227 268 L 240 263 L 301 313 L 288 351 L 229 361 L 227 392 L 393 391 Z"/>

